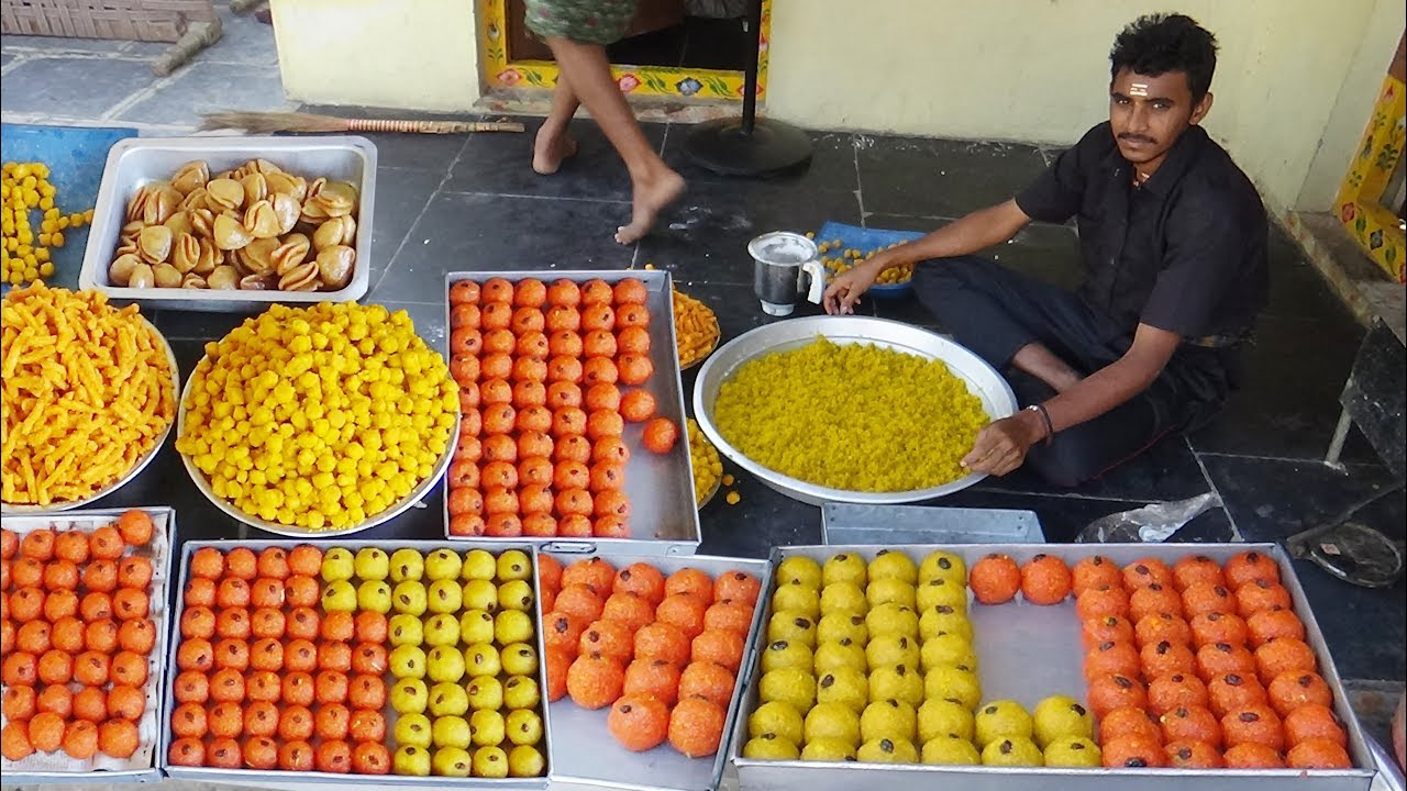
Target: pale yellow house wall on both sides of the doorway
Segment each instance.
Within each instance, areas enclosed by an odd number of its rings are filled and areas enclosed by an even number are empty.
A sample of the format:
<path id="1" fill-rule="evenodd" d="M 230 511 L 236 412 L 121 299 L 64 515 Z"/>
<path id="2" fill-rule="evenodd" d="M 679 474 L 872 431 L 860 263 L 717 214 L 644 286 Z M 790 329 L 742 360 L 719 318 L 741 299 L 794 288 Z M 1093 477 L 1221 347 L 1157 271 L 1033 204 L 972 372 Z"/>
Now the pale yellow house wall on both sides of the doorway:
<path id="1" fill-rule="evenodd" d="M 466 111 L 473 0 L 272 0 L 294 100 Z M 767 113 L 817 129 L 1068 144 L 1148 0 L 774 0 Z M 1221 55 L 1206 121 L 1275 213 L 1323 210 L 1403 31 L 1400 0 L 1182 0 Z"/>

